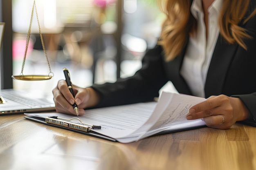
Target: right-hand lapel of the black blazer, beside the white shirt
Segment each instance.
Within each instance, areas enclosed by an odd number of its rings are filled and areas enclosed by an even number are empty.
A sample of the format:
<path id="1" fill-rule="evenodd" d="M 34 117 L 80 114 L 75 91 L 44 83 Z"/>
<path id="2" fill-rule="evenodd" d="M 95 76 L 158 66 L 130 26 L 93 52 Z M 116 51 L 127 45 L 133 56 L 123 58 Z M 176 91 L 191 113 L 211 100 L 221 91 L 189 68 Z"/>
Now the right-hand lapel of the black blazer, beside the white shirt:
<path id="1" fill-rule="evenodd" d="M 229 64 L 237 49 L 238 44 L 228 44 L 224 38 L 219 35 L 204 86 L 205 97 L 222 94 Z"/>

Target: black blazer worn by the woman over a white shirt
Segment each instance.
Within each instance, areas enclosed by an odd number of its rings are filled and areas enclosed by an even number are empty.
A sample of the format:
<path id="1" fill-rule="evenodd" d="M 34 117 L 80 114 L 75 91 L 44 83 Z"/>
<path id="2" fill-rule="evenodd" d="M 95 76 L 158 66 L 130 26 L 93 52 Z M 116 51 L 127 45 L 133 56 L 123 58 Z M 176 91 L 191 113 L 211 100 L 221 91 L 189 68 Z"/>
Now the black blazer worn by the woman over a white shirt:
<path id="1" fill-rule="evenodd" d="M 254 9 L 254 0 L 251 4 Z M 206 97 L 220 94 L 239 97 L 254 117 L 244 122 L 256 126 L 256 16 L 245 24 L 241 22 L 240 26 L 252 36 L 251 39 L 244 40 L 247 50 L 238 44 L 228 44 L 219 35 L 204 92 Z M 142 60 L 142 68 L 134 76 L 118 79 L 115 83 L 92 86 L 101 96 L 97 107 L 152 101 L 168 81 L 174 84 L 179 93 L 192 95 L 180 75 L 185 52 L 186 47 L 174 60 L 165 62 L 161 46 L 148 50 Z"/>

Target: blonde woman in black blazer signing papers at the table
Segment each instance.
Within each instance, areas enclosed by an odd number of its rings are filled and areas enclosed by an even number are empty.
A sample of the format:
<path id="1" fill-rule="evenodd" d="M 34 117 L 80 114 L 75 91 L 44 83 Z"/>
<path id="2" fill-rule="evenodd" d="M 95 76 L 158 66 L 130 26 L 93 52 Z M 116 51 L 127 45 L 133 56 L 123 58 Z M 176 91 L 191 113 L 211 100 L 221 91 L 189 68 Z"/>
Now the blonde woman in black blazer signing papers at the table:
<path id="1" fill-rule="evenodd" d="M 142 68 L 115 83 L 74 87 L 64 80 L 53 90 L 56 110 L 76 115 L 84 108 L 153 100 L 171 81 L 179 93 L 205 97 L 187 119 L 203 119 L 212 128 L 236 121 L 256 126 L 255 0 L 163 0 L 166 13 L 159 42 L 147 51 Z"/>

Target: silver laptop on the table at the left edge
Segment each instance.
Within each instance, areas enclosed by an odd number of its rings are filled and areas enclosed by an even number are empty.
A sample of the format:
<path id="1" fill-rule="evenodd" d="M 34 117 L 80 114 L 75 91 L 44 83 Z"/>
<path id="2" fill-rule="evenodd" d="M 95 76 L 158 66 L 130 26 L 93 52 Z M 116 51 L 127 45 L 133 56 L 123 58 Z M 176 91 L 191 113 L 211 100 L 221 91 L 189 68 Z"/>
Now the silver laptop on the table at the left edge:
<path id="1" fill-rule="evenodd" d="M 0 115 L 51 111 L 55 111 L 53 97 L 13 88 L 0 90 Z"/>

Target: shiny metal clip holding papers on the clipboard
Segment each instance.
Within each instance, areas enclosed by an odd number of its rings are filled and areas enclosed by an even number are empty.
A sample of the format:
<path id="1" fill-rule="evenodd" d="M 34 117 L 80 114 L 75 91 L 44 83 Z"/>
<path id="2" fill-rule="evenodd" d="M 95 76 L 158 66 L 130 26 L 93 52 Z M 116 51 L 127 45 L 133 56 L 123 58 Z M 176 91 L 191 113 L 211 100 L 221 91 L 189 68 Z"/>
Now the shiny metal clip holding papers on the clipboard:
<path id="1" fill-rule="evenodd" d="M 81 122 L 81 124 L 71 122 L 71 120 L 73 120 L 73 119 L 79 120 Z M 52 117 L 46 117 L 45 122 L 47 122 L 49 124 L 56 124 L 59 126 L 64 126 L 64 127 L 68 127 L 68 128 L 72 128 L 72 129 L 76 129 L 76 130 L 81 130 L 84 132 L 90 132 L 91 129 L 101 129 L 101 126 L 83 123 L 81 121 L 81 119 L 79 119 L 77 117 L 73 117 L 71 119 L 65 119 L 65 118 L 61 118 L 61 117 L 57 117 L 57 116 L 52 116 Z M 85 125 L 87 125 L 87 126 L 85 126 Z"/>

